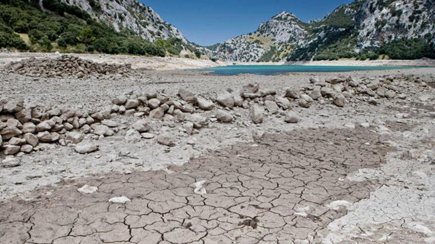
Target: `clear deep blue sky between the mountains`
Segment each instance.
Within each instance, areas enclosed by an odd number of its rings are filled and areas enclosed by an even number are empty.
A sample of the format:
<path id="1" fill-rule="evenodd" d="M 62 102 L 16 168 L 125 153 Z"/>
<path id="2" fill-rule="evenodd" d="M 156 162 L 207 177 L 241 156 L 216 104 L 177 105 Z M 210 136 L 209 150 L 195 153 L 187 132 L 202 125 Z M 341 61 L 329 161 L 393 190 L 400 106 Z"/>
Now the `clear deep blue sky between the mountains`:
<path id="1" fill-rule="evenodd" d="M 257 30 L 261 22 L 287 11 L 302 21 L 318 19 L 353 0 L 140 0 L 190 41 L 212 45 Z"/>

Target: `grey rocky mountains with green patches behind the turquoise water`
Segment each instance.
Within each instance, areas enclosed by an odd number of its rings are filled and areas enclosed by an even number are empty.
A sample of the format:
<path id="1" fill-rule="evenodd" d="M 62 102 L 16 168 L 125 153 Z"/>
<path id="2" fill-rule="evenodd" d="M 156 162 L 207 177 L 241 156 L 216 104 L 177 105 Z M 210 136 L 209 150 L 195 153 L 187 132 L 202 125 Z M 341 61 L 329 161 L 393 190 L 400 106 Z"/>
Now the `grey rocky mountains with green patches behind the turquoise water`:
<path id="1" fill-rule="evenodd" d="M 210 47 L 219 59 L 300 61 L 434 55 L 435 0 L 356 0 L 308 23 L 281 12 L 256 32 Z M 400 46 L 418 50 L 400 50 Z M 397 52 L 406 53 L 400 57 Z M 424 56 L 424 55 L 423 55 Z M 432 57 L 432 56 L 431 56 Z"/>

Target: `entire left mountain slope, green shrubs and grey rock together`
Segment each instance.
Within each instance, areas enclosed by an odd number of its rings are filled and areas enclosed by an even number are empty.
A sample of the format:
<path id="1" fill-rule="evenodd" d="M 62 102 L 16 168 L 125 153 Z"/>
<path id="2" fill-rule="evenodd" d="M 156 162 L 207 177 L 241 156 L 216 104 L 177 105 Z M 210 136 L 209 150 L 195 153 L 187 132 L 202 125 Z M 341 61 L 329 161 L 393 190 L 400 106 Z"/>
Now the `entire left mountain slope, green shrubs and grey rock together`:
<path id="1" fill-rule="evenodd" d="M 0 47 L 201 56 L 174 26 L 137 0 L 2 0 Z"/>

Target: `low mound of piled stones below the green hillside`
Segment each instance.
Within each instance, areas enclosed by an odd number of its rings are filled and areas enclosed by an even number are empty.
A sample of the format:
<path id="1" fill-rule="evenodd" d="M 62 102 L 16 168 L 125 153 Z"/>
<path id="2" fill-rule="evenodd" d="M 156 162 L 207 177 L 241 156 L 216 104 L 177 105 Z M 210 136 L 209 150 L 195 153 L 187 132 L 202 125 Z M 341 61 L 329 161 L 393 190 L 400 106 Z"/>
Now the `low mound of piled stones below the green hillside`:
<path id="1" fill-rule="evenodd" d="M 131 65 L 99 64 L 76 56 L 63 55 L 57 59 L 30 58 L 21 60 L 8 64 L 6 70 L 36 77 L 85 78 L 99 75 L 127 74 L 131 71 Z"/>

